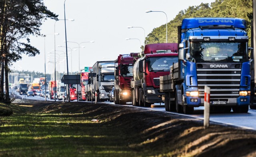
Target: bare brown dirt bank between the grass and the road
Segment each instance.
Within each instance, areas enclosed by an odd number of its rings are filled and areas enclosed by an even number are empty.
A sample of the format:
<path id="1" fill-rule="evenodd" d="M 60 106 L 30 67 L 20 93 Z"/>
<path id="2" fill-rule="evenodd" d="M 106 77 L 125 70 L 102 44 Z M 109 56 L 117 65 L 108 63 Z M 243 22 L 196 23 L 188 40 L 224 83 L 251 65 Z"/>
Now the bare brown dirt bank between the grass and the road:
<path id="1" fill-rule="evenodd" d="M 256 156 L 256 131 L 214 123 L 204 129 L 202 120 L 125 105 L 54 101 L 32 105 L 30 111 L 34 112 L 83 113 L 88 119 L 98 119 L 99 128 L 109 126 L 118 129 L 122 132 L 122 143 L 128 143 L 127 147 L 134 152 L 146 152 L 150 156 Z"/>

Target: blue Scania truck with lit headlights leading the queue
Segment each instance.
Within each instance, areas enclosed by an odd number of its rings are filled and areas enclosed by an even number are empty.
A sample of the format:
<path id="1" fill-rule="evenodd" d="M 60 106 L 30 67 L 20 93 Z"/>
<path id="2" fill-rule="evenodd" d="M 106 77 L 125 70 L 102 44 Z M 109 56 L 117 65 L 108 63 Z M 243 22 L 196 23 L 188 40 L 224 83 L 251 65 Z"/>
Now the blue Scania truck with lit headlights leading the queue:
<path id="1" fill-rule="evenodd" d="M 192 113 L 204 105 L 247 113 L 250 104 L 250 60 L 246 21 L 239 18 L 186 18 L 178 26 L 179 62 L 160 77 L 168 111 Z"/>

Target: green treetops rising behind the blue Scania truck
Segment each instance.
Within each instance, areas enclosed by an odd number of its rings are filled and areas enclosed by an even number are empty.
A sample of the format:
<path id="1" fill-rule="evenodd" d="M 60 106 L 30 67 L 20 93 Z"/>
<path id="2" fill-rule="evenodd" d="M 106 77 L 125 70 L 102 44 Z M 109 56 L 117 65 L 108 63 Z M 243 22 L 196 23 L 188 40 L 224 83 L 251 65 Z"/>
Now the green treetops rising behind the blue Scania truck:
<path id="1" fill-rule="evenodd" d="M 181 10 L 176 17 L 168 22 L 168 42 L 177 43 L 177 26 L 181 25 L 184 18 L 196 17 L 229 17 L 243 18 L 246 20 L 247 32 L 251 36 L 252 0 L 215 0 L 211 4 L 201 3 L 199 6 L 189 6 Z M 146 37 L 146 44 L 165 43 L 166 25 L 154 28 Z M 250 42 L 249 42 L 250 45 Z"/>

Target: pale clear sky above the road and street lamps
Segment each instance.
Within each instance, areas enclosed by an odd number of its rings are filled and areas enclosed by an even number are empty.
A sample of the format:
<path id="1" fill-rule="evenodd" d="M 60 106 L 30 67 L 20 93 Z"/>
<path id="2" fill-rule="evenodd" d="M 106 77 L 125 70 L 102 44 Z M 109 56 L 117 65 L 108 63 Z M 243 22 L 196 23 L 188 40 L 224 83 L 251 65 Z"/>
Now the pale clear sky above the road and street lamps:
<path id="1" fill-rule="evenodd" d="M 144 42 L 144 30 L 147 36 L 154 28 L 166 24 L 166 15 L 170 22 L 178 12 L 189 6 L 198 6 L 202 2 L 210 4 L 214 1 L 66 0 L 68 71 L 78 72 L 79 69 L 93 66 L 96 61 L 116 60 L 119 54 L 140 52 L 140 43 L 142 45 Z M 40 50 L 40 54 L 35 57 L 23 55 L 22 60 L 10 67 L 11 70 L 44 73 L 46 63 L 46 74 L 52 74 L 55 28 L 55 34 L 58 33 L 55 35 L 56 71 L 66 73 L 64 0 L 44 0 L 44 4 L 50 11 L 59 15 L 59 21 L 48 19 L 43 22 L 41 33 L 46 35 L 45 40 L 44 37 L 30 36 L 30 44 Z M 146 10 L 162 12 L 146 13 Z M 74 19 L 74 21 L 67 19 Z M 127 28 L 127 26 L 142 27 L 144 30 Z M 126 40 L 126 38 L 135 39 Z"/>

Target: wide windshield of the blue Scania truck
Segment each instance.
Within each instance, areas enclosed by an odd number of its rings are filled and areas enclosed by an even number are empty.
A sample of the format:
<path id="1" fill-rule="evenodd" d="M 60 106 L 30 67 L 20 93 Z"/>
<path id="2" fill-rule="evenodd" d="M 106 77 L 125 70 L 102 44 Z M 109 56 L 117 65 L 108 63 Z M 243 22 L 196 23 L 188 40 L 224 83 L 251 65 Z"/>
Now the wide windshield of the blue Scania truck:
<path id="1" fill-rule="evenodd" d="M 195 62 L 248 62 L 246 42 L 191 42 Z"/>

